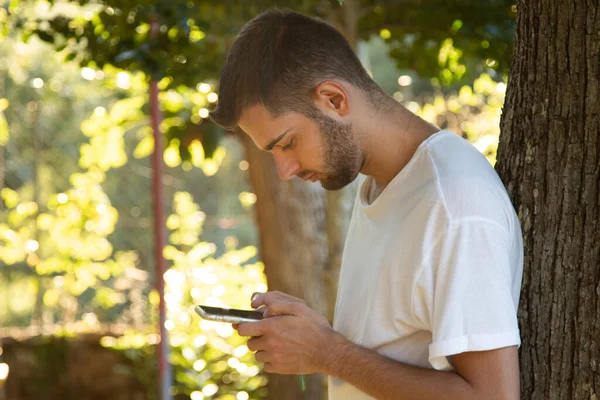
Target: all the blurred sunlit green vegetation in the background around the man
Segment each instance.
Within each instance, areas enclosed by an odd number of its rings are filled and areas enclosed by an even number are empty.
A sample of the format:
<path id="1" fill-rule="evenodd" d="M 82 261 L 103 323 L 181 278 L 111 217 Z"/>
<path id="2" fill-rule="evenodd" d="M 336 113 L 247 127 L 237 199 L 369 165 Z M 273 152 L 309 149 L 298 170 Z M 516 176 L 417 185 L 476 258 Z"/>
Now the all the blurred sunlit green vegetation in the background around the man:
<path id="1" fill-rule="evenodd" d="M 148 84 L 156 79 L 166 139 L 171 393 L 266 397 L 268 379 L 244 340 L 192 311 L 199 303 L 247 308 L 250 294 L 268 287 L 243 145 L 206 119 L 218 72 L 245 21 L 290 6 L 341 24 L 386 92 L 494 164 L 516 8 L 396 3 L 0 0 L 4 335 L 9 327 L 44 335 L 124 327 L 100 343 L 146 360 L 140 379 L 155 395 Z M 340 16 L 344 7 L 361 11 L 353 29 Z"/>

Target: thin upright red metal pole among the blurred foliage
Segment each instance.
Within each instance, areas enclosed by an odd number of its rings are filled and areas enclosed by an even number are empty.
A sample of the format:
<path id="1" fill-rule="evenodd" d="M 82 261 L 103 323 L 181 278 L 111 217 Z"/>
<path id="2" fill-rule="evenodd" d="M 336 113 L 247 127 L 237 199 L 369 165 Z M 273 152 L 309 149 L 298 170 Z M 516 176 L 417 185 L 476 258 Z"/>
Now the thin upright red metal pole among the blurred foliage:
<path id="1" fill-rule="evenodd" d="M 158 22 L 156 18 L 153 17 L 151 23 L 151 35 L 155 37 L 157 32 Z M 159 130 L 161 116 L 158 107 L 158 83 L 154 79 L 150 81 L 150 119 L 152 121 L 152 131 L 154 135 L 154 153 L 152 154 L 152 200 L 154 211 L 154 252 L 156 259 L 155 287 L 160 296 L 158 306 L 160 332 L 160 342 L 158 344 L 158 371 L 160 375 L 160 398 L 162 400 L 169 400 L 171 398 L 171 365 L 168 362 L 169 337 L 167 329 L 165 328 L 165 321 L 167 319 L 164 282 L 166 262 L 163 256 L 167 233 L 165 228 L 164 194 L 162 185 L 162 135 Z"/>

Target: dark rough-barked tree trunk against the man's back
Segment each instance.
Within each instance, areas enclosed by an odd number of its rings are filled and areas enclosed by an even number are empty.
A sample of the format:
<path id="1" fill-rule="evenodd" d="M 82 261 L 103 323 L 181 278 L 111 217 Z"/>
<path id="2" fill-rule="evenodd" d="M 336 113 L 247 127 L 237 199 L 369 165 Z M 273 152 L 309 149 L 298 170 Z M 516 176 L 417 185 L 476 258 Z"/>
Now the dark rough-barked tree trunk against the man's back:
<path id="1" fill-rule="evenodd" d="M 524 399 L 600 397 L 600 5 L 518 4 L 497 170 L 523 227 Z"/>

